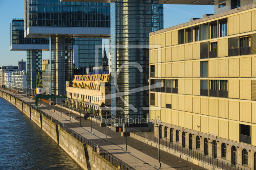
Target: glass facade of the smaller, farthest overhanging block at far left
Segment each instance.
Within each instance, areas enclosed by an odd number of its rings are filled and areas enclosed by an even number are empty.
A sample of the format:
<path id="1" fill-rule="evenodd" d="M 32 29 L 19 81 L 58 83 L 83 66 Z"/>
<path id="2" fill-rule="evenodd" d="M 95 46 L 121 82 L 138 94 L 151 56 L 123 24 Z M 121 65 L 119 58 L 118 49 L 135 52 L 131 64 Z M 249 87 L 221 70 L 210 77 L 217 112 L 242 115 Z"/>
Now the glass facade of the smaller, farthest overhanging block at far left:
<path id="1" fill-rule="evenodd" d="M 10 24 L 10 46 L 12 44 L 49 44 L 49 39 L 24 38 L 24 19 L 13 18 Z"/>

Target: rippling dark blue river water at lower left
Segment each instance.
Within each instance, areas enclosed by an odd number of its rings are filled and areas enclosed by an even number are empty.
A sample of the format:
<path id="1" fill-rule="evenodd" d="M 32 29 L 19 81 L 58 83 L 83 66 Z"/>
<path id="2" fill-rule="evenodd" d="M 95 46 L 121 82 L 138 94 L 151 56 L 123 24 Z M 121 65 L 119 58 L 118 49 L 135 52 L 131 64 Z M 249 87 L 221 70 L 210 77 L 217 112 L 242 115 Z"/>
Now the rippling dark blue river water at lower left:
<path id="1" fill-rule="evenodd" d="M 0 169 L 81 169 L 44 131 L 0 97 Z"/>

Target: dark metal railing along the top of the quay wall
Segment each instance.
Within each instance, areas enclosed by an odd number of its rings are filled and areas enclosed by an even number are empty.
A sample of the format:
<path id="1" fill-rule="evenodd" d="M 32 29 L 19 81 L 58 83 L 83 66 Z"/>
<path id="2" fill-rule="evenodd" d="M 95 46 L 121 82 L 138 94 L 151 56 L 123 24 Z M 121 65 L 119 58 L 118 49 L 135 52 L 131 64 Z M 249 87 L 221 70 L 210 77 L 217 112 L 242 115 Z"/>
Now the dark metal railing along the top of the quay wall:
<path id="1" fill-rule="evenodd" d="M 12 96 L 12 94 L 10 94 Z M 18 99 L 16 96 L 12 96 L 16 99 Z M 19 99 L 20 100 L 20 99 Z M 35 106 L 22 101 L 23 103 L 25 103 L 26 105 L 28 105 L 29 107 L 31 107 L 32 109 L 36 110 L 38 113 L 42 114 L 42 116 L 46 117 L 47 119 L 51 120 L 53 123 L 60 125 L 60 128 L 62 128 L 64 131 L 66 131 L 67 133 L 69 133 L 72 137 L 76 138 L 79 142 L 83 143 L 83 144 L 87 144 L 90 147 L 92 147 L 93 151 L 97 153 L 97 144 L 95 144 L 94 142 L 90 141 L 87 138 L 84 138 L 82 136 L 80 136 L 79 134 L 77 134 L 75 131 L 69 129 L 68 127 L 65 126 L 65 124 L 61 123 L 60 121 L 54 119 L 53 117 L 51 117 L 50 115 L 46 114 L 45 112 L 43 112 L 42 110 L 37 109 Z M 118 159 L 115 156 L 111 156 L 111 153 L 108 153 L 107 151 L 105 151 L 104 149 L 102 149 L 100 146 L 100 156 L 104 159 L 106 159 L 108 162 L 110 162 L 112 165 L 116 166 L 117 168 L 119 168 L 122 170 L 134 170 L 134 168 L 130 167 L 129 165 L 127 165 L 126 163 L 124 163 L 122 160 Z"/>

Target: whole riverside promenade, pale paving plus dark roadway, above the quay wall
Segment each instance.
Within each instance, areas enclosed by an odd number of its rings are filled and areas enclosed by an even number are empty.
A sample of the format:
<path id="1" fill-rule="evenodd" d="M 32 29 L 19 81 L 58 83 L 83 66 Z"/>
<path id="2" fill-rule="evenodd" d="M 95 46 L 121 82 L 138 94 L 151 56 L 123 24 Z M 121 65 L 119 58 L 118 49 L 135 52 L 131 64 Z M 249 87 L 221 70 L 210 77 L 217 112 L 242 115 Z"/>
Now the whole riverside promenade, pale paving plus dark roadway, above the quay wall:
<path id="1" fill-rule="evenodd" d="M 6 93 L 11 93 L 7 90 L 3 90 L 3 91 Z M 20 98 L 21 100 L 29 104 L 35 105 L 34 100 L 32 99 L 29 100 L 25 96 L 21 96 L 18 94 L 12 93 L 12 95 L 16 96 L 17 98 Z M 155 159 L 158 156 L 158 152 L 156 148 L 149 149 L 149 147 L 151 146 L 144 144 L 142 142 L 139 142 L 136 139 L 132 139 L 132 141 L 135 140 L 137 142 L 132 142 L 132 143 L 128 142 L 127 151 L 126 151 L 125 143 L 122 140 L 123 137 L 121 137 L 121 134 L 118 132 L 113 132 L 110 129 L 108 129 L 108 134 L 111 134 L 111 135 L 108 136 L 108 140 L 106 140 L 106 133 L 104 134 L 105 131 L 102 131 L 102 129 L 105 129 L 105 127 L 100 127 L 99 124 L 96 125 L 95 122 L 92 123 L 93 128 L 91 132 L 90 120 L 84 120 L 83 118 L 81 118 L 82 121 L 81 121 L 81 127 L 80 127 L 79 121 L 78 121 L 79 119 L 76 120 L 71 118 L 71 120 L 69 120 L 69 115 L 64 115 L 64 114 L 61 115 L 60 108 L 56 106 L 55 106 L 55 112 L 53 110 L 53 106 L 49 105 L 48 103 L 45 103 L 44 106 L 43 106 L 43 103 L 41 103 L 41 105 L 39 104 L 38 109 L 44 111 L 46 114 L 50 115 L 51 117 L 60 121 L 61 123 L 64 123 L 66 127 L 72 129 L 82 137 L 87 138 L 92 142 L 100 145 L 100 147 L 105 149 L 108 153 L 116 156 L 118 159 L 122 160 L 132 168 L 158 169 L 158 160 Z M 117 138 L 117 135 L 116 135 L 117 133 L 119 134 L 120 140 L 119 138 Z M 130 137 L 129 137 L 129 140 L 130 140 Z M 134 146 L 136 149 L 132 146 Z M 138 146 L 142 148 L 138 148 Z M 148 154 L 147 152 L 145 153 L 144 148 L 148 150 L 154 150 L 155 152 L 154 153 L 151 152 L 150 154 Z M 144 153 L 140 152 L 140 150 L 142 150 Z M 155 158 L 151 157 L 152 154 L 154 155 L 153 157 Z M 166 158 L 167 155 L 168 155 L 168 158 Z M 174 161 L 172 164 L 174 165 L 175 168 L 177 167 L 177 169 L 204 169 L 202 167 L 191 164 L 175 156 L 172 156 L 170 158 L 170 156 L 171 155 L 169 153 L 166 153 L 166 152 L 163 153 L 163 151 L 161 151 L 161 160 L 163 159 L 164 162 L 166 162 L 167 164 L 169 164 L 168 160 Z M 177 161 L 177 159 L 180 159 L 180 160 Z M 166 165 L 164 163 L 162 163 L 162 167 L 161 167 L 161 169 L 175 169 L 175 168 L 172 168 L 171 166 Z"/>

